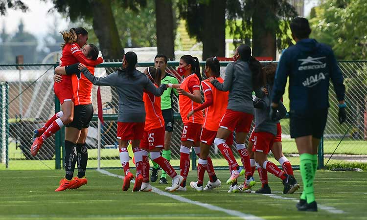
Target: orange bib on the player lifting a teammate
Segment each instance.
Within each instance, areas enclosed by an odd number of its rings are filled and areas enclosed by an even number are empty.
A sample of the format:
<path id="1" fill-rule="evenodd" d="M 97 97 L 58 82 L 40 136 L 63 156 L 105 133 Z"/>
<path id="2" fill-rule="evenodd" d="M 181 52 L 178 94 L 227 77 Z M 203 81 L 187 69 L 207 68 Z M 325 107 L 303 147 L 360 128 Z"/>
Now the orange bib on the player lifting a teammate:
<path id="1" fill-rule="evenodd" d="M 87 66 L 88 70 L 94 75 L 94 67 Z M 72 90 L 74 94 L 74 106 L 88 105 L 92 103 L 93 84 L 84 74 L 80 78 L 76 74 L 71 75 Z"/>

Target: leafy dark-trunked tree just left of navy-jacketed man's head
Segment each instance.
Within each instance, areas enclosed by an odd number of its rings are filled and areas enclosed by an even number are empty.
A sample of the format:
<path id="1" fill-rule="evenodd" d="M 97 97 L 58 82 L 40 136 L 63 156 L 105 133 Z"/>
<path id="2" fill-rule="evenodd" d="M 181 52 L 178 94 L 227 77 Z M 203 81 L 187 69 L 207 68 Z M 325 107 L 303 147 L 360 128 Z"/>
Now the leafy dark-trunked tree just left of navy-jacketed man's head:
<path id="1" fill-rule="evenodd" d="M 241 40 L 235 44 L 249 44 L 252 39 L 254 56 L 275 59 L 276 49 L 292 45 L 289 24 L 297 12 L 287 1 L 228 0 L 227 11 L 230 33 Z"/>

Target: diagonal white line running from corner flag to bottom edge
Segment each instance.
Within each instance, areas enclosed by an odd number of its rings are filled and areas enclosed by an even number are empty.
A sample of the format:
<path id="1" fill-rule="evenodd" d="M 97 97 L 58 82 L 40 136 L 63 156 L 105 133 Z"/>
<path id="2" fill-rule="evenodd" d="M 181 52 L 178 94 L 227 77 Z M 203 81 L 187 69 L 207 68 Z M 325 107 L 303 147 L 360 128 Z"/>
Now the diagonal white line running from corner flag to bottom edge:
<path id="1" fill-rule="evenodd" d="M 105 174 L 105 175 L 108 175 L 108 176 L 114 176 L 114 177 L 118 177 L 118 178 L 121 178 L 121 179 L 124 178 L 124 176 L 119 176 L 119 175 L 116 175 L 116 174 L 112 174 L 112 173 L 110 173 L 108 171 L 105 171 L 105 170 L 97 170 L 97 171 L 100 172 L 101 174 Z M 199 201 L 193 201 L 193 200 L 190 200 L 188 198 L 184 198 L 184 197 L 177 196 L 177 195 L 174 195 L 174 194 L 166 193 L 166 192 L 163 192 L 163 191 L 157 189 L 156 187 L 153 187 L 152 192 L 157 193 L 161 196 L 166 196 L 166 197 L 169 197 L 169 198 L 176 199 L 176 200 L 181 201 L 181 202 L 186 202 L 186 203 L 189 203 L 189 204 L 202 206 L 202 207 L 204 207 L 206 209 L 209 209 L 209 210 L 224 212 L 224 213 L 227 213 L 230 216 L 239 217 L 239 218 L 244 219 L 244 220 L 264 220 L 260 217 L 254 216 L 254 215 L 244 214 L 242 212 L 221 208 L 221 207 L 218 207 L 218 206 L 215 206 L 215 205 L 210 205 L 210 204 L 202 203 L 202 202 L 199 202 Z"/>

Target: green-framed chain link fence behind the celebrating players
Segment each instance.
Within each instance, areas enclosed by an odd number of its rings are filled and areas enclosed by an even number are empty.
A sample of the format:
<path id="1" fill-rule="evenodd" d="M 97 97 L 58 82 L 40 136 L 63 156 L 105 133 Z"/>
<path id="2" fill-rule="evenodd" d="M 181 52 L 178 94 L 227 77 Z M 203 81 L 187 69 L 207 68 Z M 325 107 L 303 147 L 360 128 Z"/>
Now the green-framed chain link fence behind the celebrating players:
<path id="1" fill-rule="evenodd" d="M 204 63 L 201 63 L 203 66 Z M 224 76 L 226 62 L 221 63 Z M 115 71 L 121 63 L 104 63 L 95 68 L 96 76 L 103 76 Z M 143 71 L 153 63 L 139 64 Z M 177 62 L 169 62 L 168 72 L 177 75 Z M 334 90 L 330 88 L 330 109 L 323 141 L 321 142 L 320 166 L 331 167 L 366 167 L 367 166 L 367 63 L 340 62 L 346 87 L 348 120 L 342 126 L 338 122 L 338 108 Z M 49 65 L 0 65 L 1 83 L 1 145 L 0 169 L 55 169 L 63 164 L 62 151 L 63 130 L 47 139 L 36 157 L 30 156 L 32 131 L 40 128 L 55 113 L 53 92 L 53 64 Z M 203 75 L 204 77 L 204 75 Z M 181 80 L 181 79 L 179 79 Z M 5 83 L 6 82 L 6 83 Z M 117 108 L 118 96 L 113 87 L 100 87 L 104 124 L 98 125 L 96 115 L 90 124 L 87 146 L 89 148 L 89 168 L 121 167 L 117 150 Z M 97 112 L 97 87 L 93 86 L 92 104 Z M 284 104 L 289 110 L 288 89 L 284 94 Z M 183 124 L 178 109 L 178 99 L 174 98 L 175 124 L 173 128 L 171 151 L 173 166 L 180 164 L 180 143 Z M 204 100 L 204 98 L 203 98 Z M 57 103 L 57 102 L 56 102 Z M 56 105 L 56 111 L 59 105 Z M 282 119 L 283 153 L 298 166 L 298 151 L 289 134 L 289 119 Z M 100 138 L 99 138 L 100 137 Z M 344 138 L 343 138 L 344 137 Z M 339 144 L 339 142 L 343 141 Z M 98 145 L 98 141 L 100 144 Z M 55 146 L 57 146 L 55 148 Z M 99 148 L 98 148 L 99 146 Z M 337 148 L 337 149 L 336 149 Z M 61 148 L 62 149 L 62 148 Z M 336 151 L 335 151 L 336 149 Z M 334 152 L 335 151 L 335 152 Z M 233 148 L 238 162 L 240 157 Z M 195 156 L 193 155 L 193 167 Z M 227 161 L 216 147 L 210 150 L 213 164 L 217 168 L 228 168 Z M 270 154 L 270 160 L 275 161 Z M 330 158 L 330 159 L 329 159 Z"/>

